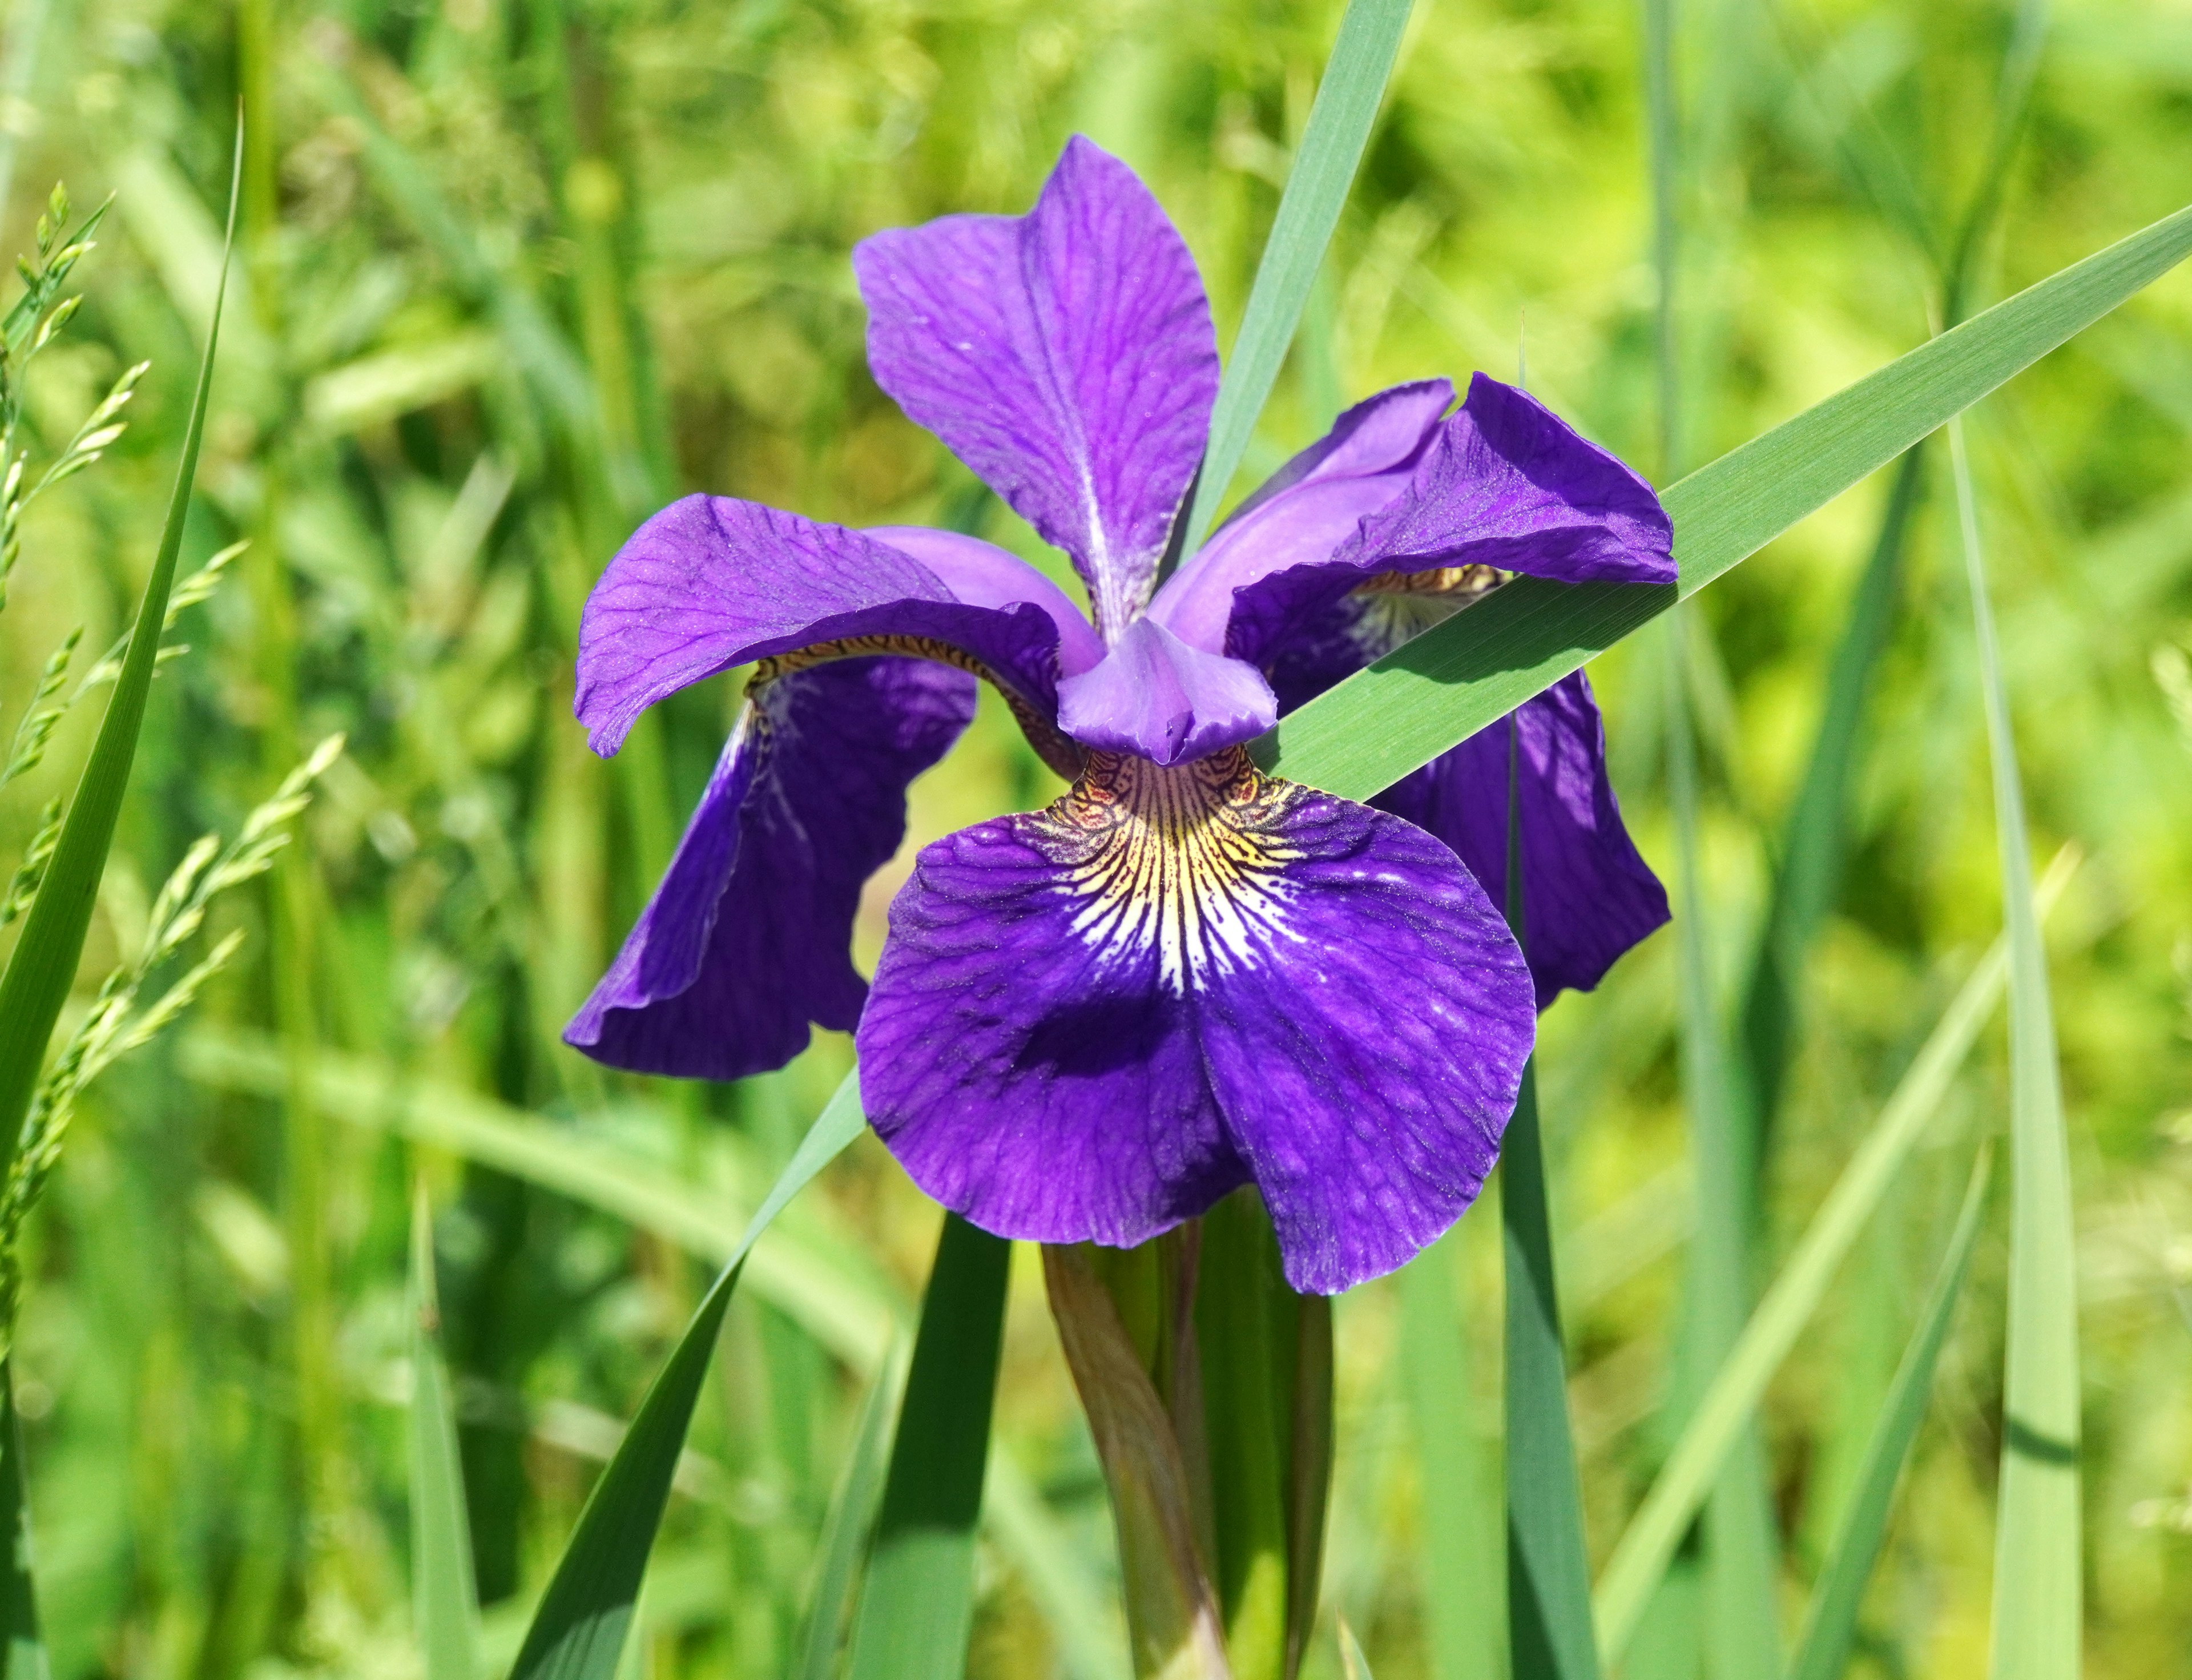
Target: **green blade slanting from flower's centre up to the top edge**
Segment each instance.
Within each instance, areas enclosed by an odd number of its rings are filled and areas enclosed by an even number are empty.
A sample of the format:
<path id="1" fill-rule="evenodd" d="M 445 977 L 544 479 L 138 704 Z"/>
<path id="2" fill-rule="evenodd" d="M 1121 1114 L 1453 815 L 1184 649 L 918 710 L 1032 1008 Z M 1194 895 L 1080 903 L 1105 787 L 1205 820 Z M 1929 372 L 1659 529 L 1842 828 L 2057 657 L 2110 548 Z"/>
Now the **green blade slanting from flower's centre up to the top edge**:
<path id="1" fill-rule="evenodd" d="M 1401 33 L 1407 29 L 1412 0 L 1348 0 L 1339 20 L 1339 39 L 1317 83 L 1309 107 L 1309 127 L 1293 154 L 1287 191 L 1278 200 L 1278 217 L 1256 263 L 1256 283 L 1247 294 L 1247 314 L 1234 338 L 1225 379 L 1219 384 L 1217 408 L 1210 412 L 1210 450 L 1195 480 L 1195 502 L 1188 511 L 1188 535 L 1181 555 L 1192 555 L 1217 518 L 1225 487 L 1232 483 L 1241 454 L 1256 432 L 1256 417 L 1287 362 L 1287 347 L 1317 281 L 1324 248 L 1339 226 L 1339 208 L 1348 202 L 1355 167 L 1370 143 L 1385 79 L 1392 75 Z"/>

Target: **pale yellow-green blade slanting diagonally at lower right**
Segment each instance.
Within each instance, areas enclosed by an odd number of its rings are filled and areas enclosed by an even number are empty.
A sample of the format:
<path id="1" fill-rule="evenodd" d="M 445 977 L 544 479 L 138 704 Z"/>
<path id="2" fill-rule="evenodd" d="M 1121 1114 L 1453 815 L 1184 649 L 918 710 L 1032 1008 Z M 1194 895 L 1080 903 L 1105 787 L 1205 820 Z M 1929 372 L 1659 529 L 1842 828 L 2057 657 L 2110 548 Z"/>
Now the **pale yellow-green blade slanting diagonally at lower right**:
<path id="1" fill-rule="evenodd" d="M 2050 869 L 2047 882 L 2041 884 L 2045 901 L 2060 893 L 2069 871 L 2067 858 Z M 1626 1649 L 1644 1603 L 1697 1516 L 1727 1450 L 1765 1395 L 1773 1371 L 1811 1323 L 1835 1279 L 1835 1268 L 1949 1094 L 1955 1070 L 2001 996 L 2008 961 L 2008 941 L 1997 941 L 1911 1057 L 1872 1132 L 1841 1169 L 1835 1189 L 1826 1193 L 1804 1237 L 1745 1325 L 1743 1338 L 1714 1375 L 1675 1452 L 1668 1454 L 1659 1480 L 1631 1518 L 1598 1579 L 1598 1643 L 1609 1662 L 1618 1662 Z"/>

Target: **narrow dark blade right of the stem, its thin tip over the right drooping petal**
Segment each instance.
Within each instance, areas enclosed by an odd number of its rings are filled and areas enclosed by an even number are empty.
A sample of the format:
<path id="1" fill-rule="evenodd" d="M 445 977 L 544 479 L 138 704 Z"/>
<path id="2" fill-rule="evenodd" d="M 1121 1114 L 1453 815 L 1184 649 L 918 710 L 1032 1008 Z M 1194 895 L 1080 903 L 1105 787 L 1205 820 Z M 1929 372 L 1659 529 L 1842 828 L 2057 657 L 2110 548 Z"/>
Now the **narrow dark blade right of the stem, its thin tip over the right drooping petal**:
<path id="1" fill-rule="evenodd" d="M 1521 917 L 1519 730 L 1508 719 L 1506 917 Z M 1537 1127 L 1537 1059 L 1499 1143 L 1499 1222 L 1506 1241 L 1506 1509 L 1508 1649 L 1515 1680 L 1598 1680 L 1591 1566 L 1583 1544 L 1583 1485 L 1567 1426 L 1567 1355 L 1552 1276 L 1545 1154 Z"/>

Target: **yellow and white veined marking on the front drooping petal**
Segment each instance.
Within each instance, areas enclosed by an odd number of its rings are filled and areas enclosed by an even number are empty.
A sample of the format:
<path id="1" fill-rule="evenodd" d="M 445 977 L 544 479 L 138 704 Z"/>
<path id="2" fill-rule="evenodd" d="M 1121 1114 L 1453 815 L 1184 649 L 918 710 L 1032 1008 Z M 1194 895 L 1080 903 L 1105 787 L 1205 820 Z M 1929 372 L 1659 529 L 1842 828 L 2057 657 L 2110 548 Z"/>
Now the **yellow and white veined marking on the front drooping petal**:
<path id="1" fill-rule="evenodd" d="M 1287 864 L 1306 853 L 1289 814 L 1306 787 L 1265 776 L 1243 748 L 1181 765 L 1089 752 L 1072 792 L 1028 818 L 1028 842 L 1061 871 L 1072 930 L 1100 961 L 1151 952 L 1181 996 L 1256 967 L 1289 921 Z"/>

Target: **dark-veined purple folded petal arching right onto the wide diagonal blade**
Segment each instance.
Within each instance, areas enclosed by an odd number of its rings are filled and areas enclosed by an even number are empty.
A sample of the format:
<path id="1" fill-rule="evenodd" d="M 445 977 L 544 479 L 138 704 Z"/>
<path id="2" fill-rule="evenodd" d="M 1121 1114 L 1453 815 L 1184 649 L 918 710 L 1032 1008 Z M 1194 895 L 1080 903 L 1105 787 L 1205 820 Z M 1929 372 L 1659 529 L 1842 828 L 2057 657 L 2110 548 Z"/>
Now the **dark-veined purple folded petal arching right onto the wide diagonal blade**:
<path id="1" fill-rule="evenodd" d="M 1495 566 L 1563 583 L 1672 583 L 1672 524 L 1637 474 L 1530 393 L 1482 373 L 1407 485 L 1320 564 L 1238 590 L 1225 651 L 1271 658 L 1379 572 Z"/>

